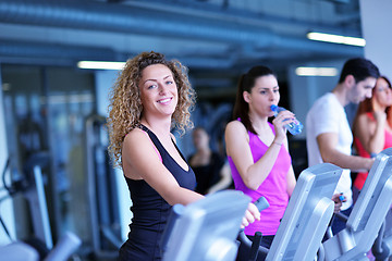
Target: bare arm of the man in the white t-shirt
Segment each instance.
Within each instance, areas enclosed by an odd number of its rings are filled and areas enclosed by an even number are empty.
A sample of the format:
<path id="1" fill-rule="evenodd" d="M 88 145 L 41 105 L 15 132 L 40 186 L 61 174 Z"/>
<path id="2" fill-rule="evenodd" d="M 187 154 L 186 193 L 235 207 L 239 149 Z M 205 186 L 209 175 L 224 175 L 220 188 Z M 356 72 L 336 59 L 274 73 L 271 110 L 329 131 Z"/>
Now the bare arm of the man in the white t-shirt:
<path id="1" fill-rule="evenodd" d="M 357 156 L 347 156 L 335 149 L 338 145 L 336 133 L 323 133 L 317 136 L 317 144 L 323 162 L 335 164 L 350 170 L 370 170 L 373 159 Z"/>

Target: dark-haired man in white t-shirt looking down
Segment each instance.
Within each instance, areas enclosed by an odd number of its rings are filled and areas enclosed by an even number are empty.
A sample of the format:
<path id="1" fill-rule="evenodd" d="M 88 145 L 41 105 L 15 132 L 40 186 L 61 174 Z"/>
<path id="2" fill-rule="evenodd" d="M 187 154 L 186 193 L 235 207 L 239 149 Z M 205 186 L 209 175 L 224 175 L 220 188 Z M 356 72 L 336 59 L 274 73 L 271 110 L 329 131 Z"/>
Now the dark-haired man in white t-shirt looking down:
<path id="1" fill-rule="evenodd" d="M 379 76 L 378 67 L 369 60 L 346 61 L 338 85 L 317 99 L 306 116 L 309 166 L 329 162 L 344 169 L 335 192 L 345 197 L 341 210 L 346 215 L 353 208 L 351 170 L 370 170 L 373 159 L 352 156 L 353 134 L 344 107 L 370 98 Z M 335 219 L 332 232 L 336 234 L 344 227 L 345 222 Z"/>

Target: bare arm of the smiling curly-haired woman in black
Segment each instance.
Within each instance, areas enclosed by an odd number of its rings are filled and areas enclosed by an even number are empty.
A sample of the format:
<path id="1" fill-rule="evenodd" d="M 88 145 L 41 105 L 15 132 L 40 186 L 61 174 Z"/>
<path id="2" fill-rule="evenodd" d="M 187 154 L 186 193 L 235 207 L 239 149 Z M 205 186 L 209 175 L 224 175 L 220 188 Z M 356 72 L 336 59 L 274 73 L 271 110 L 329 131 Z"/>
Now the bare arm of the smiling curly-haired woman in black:
<path id="1" fill-rule="evenodd" d="M 188 204 L 203 196 L 182 188 L 162 164 L 149 137 L 140 129 L 133 129 L 123 144 L 124 175 L 146 181 L 168 203 Z"/>

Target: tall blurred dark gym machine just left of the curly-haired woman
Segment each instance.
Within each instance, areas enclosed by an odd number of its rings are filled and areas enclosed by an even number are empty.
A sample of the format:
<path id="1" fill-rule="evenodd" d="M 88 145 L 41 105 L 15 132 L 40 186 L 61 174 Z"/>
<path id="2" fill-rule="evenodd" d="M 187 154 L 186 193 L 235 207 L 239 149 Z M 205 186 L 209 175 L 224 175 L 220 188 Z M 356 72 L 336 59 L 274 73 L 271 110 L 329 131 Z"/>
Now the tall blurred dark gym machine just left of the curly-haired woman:
<path id="1" fill-rule="evenodd" d="M 108 153 L 106 117 L 93 114 L 85 122 L 85 154 L 91 254 L 114 259 L 122 245 L 120 211 L 113 167 Z"/>

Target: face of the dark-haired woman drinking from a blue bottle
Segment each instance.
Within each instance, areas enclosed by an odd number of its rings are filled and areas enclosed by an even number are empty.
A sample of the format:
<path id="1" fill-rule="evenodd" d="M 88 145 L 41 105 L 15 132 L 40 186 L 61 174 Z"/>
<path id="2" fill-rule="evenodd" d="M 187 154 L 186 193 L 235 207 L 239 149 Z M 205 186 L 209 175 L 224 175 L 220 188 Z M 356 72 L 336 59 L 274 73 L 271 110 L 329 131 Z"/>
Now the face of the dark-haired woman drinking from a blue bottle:
<path id="1" fill-rule="evenodd" d="M 244 99 L 249 104 L 249 112 L 255 112 L 260 116 L 272 116 L 272 104 L 278 104 L 280 100 L 279 85 L 274 75 L 266 75 L 255 80 L 255 86 L 250 94 L 244 91 Z"/>

